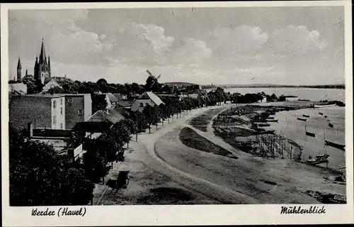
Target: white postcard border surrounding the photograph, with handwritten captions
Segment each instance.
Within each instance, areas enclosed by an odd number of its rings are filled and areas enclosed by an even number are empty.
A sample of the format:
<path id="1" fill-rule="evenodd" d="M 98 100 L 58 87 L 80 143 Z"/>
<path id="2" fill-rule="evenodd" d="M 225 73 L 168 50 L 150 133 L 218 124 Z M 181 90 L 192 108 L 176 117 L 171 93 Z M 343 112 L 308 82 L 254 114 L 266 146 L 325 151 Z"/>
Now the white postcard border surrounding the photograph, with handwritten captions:
<path id="1" fill-rule="evenodd" d="M 33 217 L 32 207 L 8 205 L 8 9 L 109 9 L 170 7 L 345 6 L 346 205 L 326 214 L 280 215 L 282 205 L 86 206 L 84 217 Z M 3 226 L 131 226 L 353 223 L 353 72 L 351 1 L 1 4 L 1 164 Z M 304 205 L 302 205 L 304 206 Z M 59 210 L 59 206 L 52 209 Z"/>

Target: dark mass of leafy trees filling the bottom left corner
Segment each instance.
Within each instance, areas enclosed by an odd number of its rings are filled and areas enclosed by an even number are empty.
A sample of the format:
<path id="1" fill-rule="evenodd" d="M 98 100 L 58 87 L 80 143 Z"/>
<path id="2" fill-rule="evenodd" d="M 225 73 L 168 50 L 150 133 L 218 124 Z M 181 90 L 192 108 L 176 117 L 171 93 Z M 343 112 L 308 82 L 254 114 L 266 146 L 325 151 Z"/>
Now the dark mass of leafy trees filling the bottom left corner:
<path id="1" fill-rule="evenodd" d="M 52 146 L 10 128 L 9 149 L 11 206 L 86 205 L 91 200 L 93 183 Z"/>

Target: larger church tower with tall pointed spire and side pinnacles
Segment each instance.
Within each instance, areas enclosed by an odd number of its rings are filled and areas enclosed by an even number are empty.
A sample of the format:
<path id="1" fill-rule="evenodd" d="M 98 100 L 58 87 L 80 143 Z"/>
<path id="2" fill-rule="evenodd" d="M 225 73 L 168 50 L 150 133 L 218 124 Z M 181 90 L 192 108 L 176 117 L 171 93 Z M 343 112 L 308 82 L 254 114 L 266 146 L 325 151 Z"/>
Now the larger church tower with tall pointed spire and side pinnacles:
<path id="1" fill-rule="evenodd" d="M 36 80 L 40 80 L 42 84 L 45 82 L 45 78 L 50 78 L 50 58 L 45 56 L 45 47 L 42 39 L 42 47 L 40 48 L 40 58 L 35 57 L 35 70 L 34 70 L 34 77 Z"/>

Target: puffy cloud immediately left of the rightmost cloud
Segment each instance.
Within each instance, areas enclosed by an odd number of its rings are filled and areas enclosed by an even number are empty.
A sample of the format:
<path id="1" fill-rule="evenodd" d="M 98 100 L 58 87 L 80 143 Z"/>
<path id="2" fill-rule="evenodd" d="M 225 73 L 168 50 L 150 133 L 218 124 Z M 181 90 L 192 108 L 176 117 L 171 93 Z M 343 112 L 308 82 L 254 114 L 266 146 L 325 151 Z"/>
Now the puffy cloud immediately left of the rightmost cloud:
<path id="1" fill-rule="evenodd" d="M 234 29 L 217 27 L 210 35 L 212 50 L 228 56 L 254 53 L 268 40 L 268 34 L 261 28 L 246 25 Z"/>

